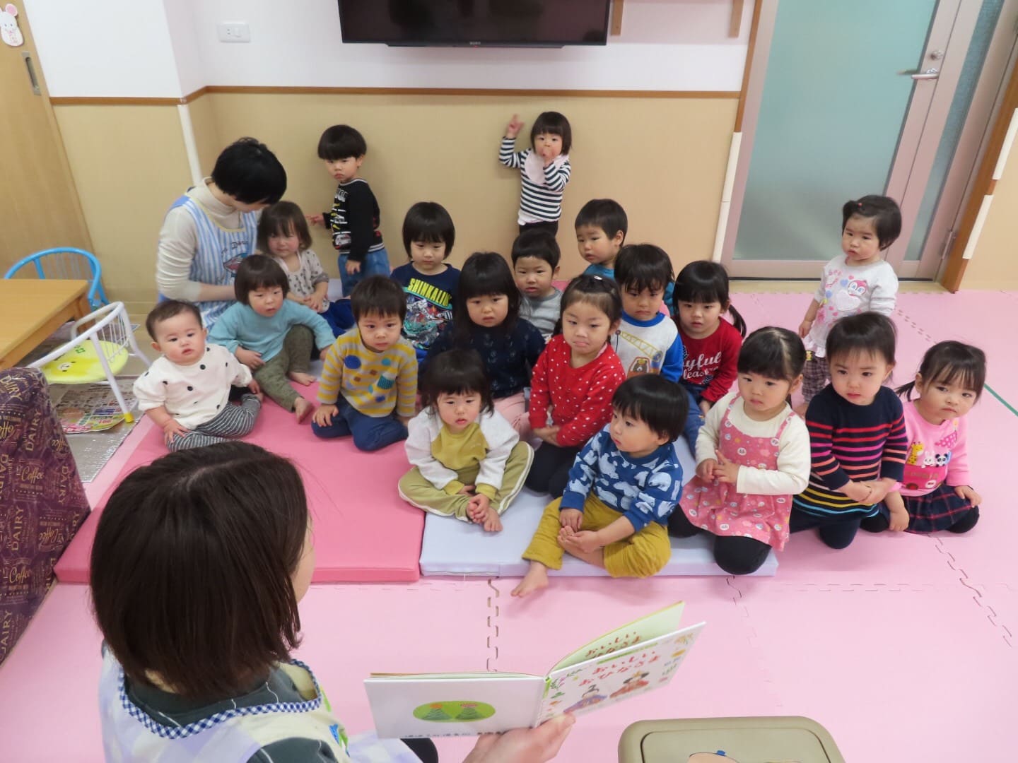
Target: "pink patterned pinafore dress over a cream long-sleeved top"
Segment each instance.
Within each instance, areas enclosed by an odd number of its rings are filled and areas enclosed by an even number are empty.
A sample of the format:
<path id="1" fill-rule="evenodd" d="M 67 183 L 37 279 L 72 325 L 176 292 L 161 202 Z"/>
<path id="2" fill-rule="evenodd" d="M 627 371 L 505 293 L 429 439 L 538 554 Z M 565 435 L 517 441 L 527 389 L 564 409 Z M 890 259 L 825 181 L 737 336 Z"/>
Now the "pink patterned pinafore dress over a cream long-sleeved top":
<path id="1" fill-rule="evenodd" d="M 781 435 L 795 413 L 788 412 L 773 437 L 751 437 L 731 420 L 732 406 L 739 399 L 738 395 L 732 398 L 725 411 L 718 428 L 718 450 L 739 466 L 773 471 L 778 468 Z M 733 484 L 704 482 L 694 476 L 682 488 L 679 507 L 694 527 L 715 535 L 753 538 L 779 551 L 788 540 L 791 495 L 749 495 L 736 492 Z"/>

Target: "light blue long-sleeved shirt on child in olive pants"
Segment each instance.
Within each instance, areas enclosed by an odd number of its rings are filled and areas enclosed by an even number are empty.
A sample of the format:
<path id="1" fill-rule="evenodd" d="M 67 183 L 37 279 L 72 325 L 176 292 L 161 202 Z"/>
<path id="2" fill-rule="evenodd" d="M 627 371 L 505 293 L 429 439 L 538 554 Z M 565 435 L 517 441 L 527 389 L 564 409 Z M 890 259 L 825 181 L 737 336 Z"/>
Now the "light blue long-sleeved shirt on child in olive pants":
<path id="1" fill-rule="evenodd" d="M 315 334 L 315 346 L 328 349 L 336 338 L 325 318 L 310 307 L 284 299 L 275 315 L 259 315 L 248 305 L 235 302 L 219 316 L 209 332 L 209 341 L 222 345 L 230 352 L 237 347 L 262 354 L 262 360 L 272 360 L 283 349 L 286 333 L 294 326 L 306 326 Z"/>

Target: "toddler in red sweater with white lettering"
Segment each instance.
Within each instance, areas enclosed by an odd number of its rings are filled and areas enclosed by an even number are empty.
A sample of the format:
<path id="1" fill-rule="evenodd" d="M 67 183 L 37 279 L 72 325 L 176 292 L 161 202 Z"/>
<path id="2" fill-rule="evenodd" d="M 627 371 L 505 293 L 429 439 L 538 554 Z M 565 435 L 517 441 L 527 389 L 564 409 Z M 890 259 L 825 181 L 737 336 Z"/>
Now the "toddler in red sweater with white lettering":
<path id="1" fill-rule="evenodd" d="M 722 318 L 728 312 L 732 322 Z M 746 324 L 728 298 L 728 274 L 719 262 L 690 262 L 675 279 L 675 321 L 686 351 L 682 386 L 689 393 L 685 436 L 695 452 L 703 417 L 735 382 Z"/>

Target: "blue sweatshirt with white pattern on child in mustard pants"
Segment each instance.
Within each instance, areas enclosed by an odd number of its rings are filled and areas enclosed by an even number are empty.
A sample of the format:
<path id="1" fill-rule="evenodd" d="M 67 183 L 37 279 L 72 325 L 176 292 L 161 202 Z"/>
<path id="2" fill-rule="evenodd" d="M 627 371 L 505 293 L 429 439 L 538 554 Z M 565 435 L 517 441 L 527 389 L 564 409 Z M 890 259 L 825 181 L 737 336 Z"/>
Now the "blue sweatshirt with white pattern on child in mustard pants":
<path id="1" fill-rule="evenodd" d="M 682 492 L 682 465 L 675 446 L 665 443 L 649 456 L 632 458 L 612 442 L 610 427 L 590 437 L 576 457 L 560 511 L 583 511 L 592 488 L 595 495 L 629 520 L 634 531 L 651 522 L 667 527 L 668 515 Z"/>

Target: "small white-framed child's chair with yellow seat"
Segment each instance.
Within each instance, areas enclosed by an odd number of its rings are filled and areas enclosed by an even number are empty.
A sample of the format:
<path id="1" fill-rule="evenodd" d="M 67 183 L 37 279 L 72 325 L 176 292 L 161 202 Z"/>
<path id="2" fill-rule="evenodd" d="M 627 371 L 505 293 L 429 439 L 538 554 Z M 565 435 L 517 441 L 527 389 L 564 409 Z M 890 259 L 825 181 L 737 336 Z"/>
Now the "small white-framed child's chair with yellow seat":
<path id="1" fill-rule="evenodd" d="M 78 329 L 90 325 L 78 334 Z M 51 385 L 88 385 L 103 379 L 110 386 L 120 404 L 124 420 L 134 420 L 124 402 L 116 375 L 123 370 L 131 355 L 152 365 L 134 341 L 130 319 L 123 302 L 111 302 L 95 312 L 75 320 L 70 328 L 70 340 L 30 365 L 39 368 Z"/>

